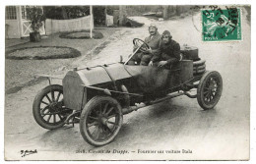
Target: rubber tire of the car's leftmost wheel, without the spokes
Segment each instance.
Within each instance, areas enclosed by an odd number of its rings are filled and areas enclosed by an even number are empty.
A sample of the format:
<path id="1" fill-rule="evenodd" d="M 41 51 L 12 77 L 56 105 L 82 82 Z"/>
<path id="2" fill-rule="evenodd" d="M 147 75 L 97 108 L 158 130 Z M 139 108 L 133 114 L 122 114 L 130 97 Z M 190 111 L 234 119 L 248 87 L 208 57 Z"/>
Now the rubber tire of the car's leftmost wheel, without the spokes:
<path id="1" fill-rule="evenodd" d="M 35 120 L 35 122 L 41 126 L 42 128 L 44 129 L 47 129 L 47 130 L 55 130 L 55 129 L 58 129 L 60 127 L 63 127 L 64 126 L 64 120 L 63 120 L 63 123 L 61 124 L 58 124 L 56 126 L 52 126 L 52 125 L 48 125 L 46 123 L 44 123 L 42 120 L 41 120 L 41 117 L 40 117 L 40 102 L 42 100 L 42 98 L 44 97 L 44 95 L 46 93 L 49 93 L 50 90 L 61 90 L 62 93 L 63 93 L 63 86 L 62 85 L 59 85 L 59 84 L 52 84 L 52 85 L 48 85 L 46 87 L 44 87 L 43 89 L 41 89 L 39 91 L 39 93 L 34 97 L 34 100 L 33 100 L 33 103 L 32 103 L 32 115 L 33 115 L 33 118 Z"/>

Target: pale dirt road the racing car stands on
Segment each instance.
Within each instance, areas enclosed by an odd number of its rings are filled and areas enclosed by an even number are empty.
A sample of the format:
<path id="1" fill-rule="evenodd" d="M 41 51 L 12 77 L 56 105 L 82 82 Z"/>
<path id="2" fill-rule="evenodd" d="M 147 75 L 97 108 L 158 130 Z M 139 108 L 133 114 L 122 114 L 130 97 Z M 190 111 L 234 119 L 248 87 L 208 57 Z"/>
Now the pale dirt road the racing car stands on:
<path id="1" fill-rule="evenodd" d="M 199 14 L 157 23 L 160 32 L 169 29 L 173 39 L 180 44 L 197 46 L 200 57 L 207 61 L 207 70 L 221 73 L 224 91 L 215 109 L 202 111 L 196 99 L 176 97 L 125 115 L 121 131 L 114 141 L 105 146 L 94 147 L 81 137 L 78 126 L 47 131 L 35 123 L 32 118 L 33 97 L 47 85 L 46 81 L 40 82 L 15 94 L 6 95 L 6 158 L 248 159 L 251 28 L 245 19 L 245 11 L 242 16 L 243 40 L 238 42 L 202 42 Z M 99 54 L 92 53 L 84 60 L 74 62 L 74 66 L 112 63 L 119 61 L 119 55 L 127 58 L 132 50 L 132 39 L 146 37 L 147 25 L 152 22 L 146 18 L 134 19 L 144 22 L 146 26 L 125 29 L 122 37 L 110 40 Z M 36 149 L 37 153 L 21 157 L 21 150 L 27 149 Z M 109 153 L 102 153 L 108 150 Z"/>

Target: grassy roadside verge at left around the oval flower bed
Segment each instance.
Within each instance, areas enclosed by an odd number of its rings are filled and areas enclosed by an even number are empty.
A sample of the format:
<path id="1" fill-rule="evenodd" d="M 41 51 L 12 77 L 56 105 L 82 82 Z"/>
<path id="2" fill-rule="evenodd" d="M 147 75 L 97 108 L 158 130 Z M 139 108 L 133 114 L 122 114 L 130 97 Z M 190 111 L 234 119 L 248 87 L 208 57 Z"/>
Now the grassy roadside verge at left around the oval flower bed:
<path id="1" fill-rule="evenodd" d="M 56 75 L 56 74 L 64 74 L 69 69 L 72 68 L 72 63 L 75 61 L 80 61 L 81 57 L 86 57 L 88 52 L 92 49 L 96 48 L 99 44 L 101 45 L 103 42 L 107 41 L 107 39 L 112 36 L 115 32 L 116 35 L 119 35 L 118 28 L 99 28 L 96 29 L 103 34 L 103 38 L 101 39 L 68 39 L 68 38 L 60 38 L 60 33 L 54 33 L 48 36 L 43 36 L 40 42 L 30 42 L 27 38 L 26 39 L 6 39 L 5 44 L 5 54 L 8 56 L 10 53 L 17 51 L 18 49 L 22 50 L 19 52 L 21 55 L 20 58 L 24 56 L 35 56 L 33 54 L 36 51 L 39 51 L 39 47 L 42 48 L 40 54 L 36 56 L 44 56 L 45 59 L 36 60 L 36 58 L 31 59 L 23 59 L 23 60 L 13 60 L 6 58 L 5 60 L 5 90 L 6 93 L 14 93 L 21 90 L 23 87 L 27 86 L 28 83 L 34 84 L 37 79 L 34 78 L 35 75 L 40 74 L 49 74 L 49 75 Z M 46 51 L 46 47 L 49 48 L 50 51 Z M 55 47 L 55 48 L 54 48 Z M 58 49 L 56 47 L 62 47 Z M 74 51 L 70 51 L 68 48 L 74 48 L 75 50 L 81 53 L 80 57 L 75 58 L 61 58 L 59 55 L 60 52 L 63 53 L 63 48 L 65 47 L 64 51 L 73 53 Z M 103 47 L 102 47 L 103 48 Z M 31 51 L 31 52 L 27 52 Z M 18 52 L 15 52 L 16 55 Z M 38 52 L 39 53 L 39 52 Z M 54 56 L 58 54 L 58 58 Z M 48 59 L 48 56 L 51 59 Z M 64 55 L 66 56 L 66 55 Z M 74 57 L 74 54 L 71 54 Z M 68 56 L 68 57 L 71 57 Z M 44 58 L 44 57 L 42 57 Z M 47 59 L 46 59 L 47 58 Z M 53 59 L 54 58 L 54 59 Z"/>

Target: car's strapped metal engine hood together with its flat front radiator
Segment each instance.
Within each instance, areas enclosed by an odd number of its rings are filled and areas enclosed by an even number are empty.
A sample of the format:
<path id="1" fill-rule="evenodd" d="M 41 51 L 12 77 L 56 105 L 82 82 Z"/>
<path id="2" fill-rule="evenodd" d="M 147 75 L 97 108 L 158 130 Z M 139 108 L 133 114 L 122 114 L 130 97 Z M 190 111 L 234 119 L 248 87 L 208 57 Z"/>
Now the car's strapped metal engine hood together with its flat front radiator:
<path id="1" fill-rule="evenodd" d="M 120 63 L 69 71 L 62 81 L 64 105 L 69 109 L 81 110 L 88 99 L 88 90 L 84 86 L 94 86 L 130 77 L 124 65 Z"/>

